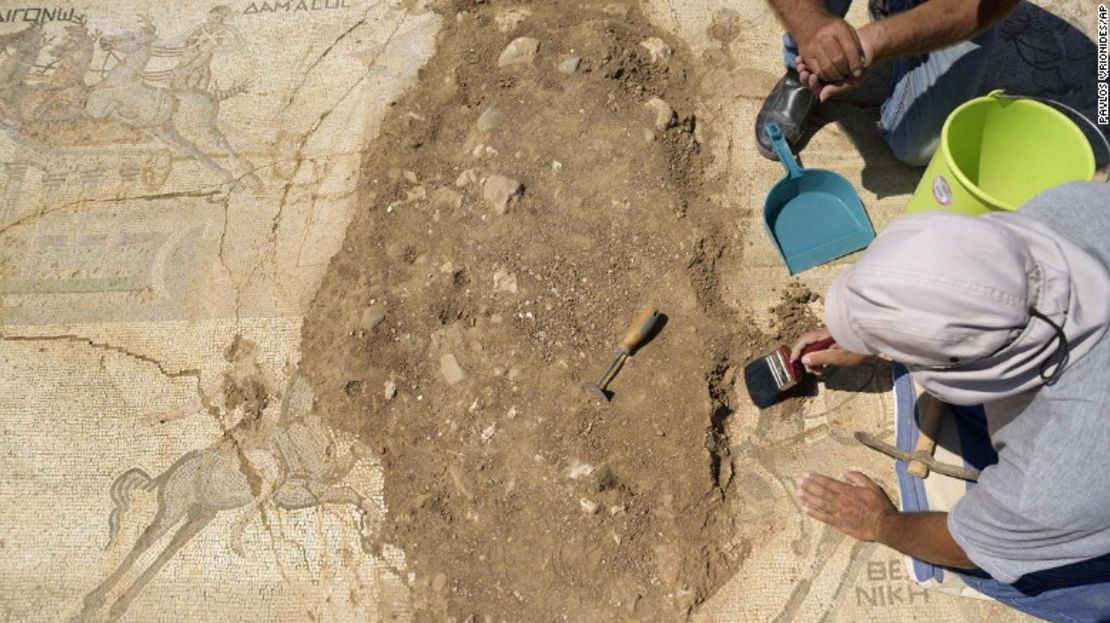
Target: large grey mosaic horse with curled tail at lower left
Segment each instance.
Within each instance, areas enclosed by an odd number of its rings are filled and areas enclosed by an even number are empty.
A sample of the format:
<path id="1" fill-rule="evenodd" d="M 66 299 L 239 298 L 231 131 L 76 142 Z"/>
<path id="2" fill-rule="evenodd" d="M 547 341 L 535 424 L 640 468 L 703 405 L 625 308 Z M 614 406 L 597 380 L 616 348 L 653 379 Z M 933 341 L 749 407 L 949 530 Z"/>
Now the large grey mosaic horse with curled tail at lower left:
<path id="1" fill-rule="evenodd" d="M 88 593 L 74 621 L 91 620 L 143 553 L 180 525 L 169 544 L 112 604 L 109 616 L 121 616 L 162 566 L 224 511 L 262 513 L 269 504 L 282 510 L 350 505 L 360 514 L 362 547 L 366 551 L 366 519 L 377 509 L 343 480 L 371 452 L 356 443 L 347 454 L 336 456 L 330 429 L 312 413 L 313 400 L 307 382 L 294 374 L 279 421 L 270 432 L 253 438 L 239 435 L 240 440 L 225 435 L 209 448 L 185 453 L 154 478 L 138 468 L 120 474 L 110 490 L 114 508 L 109 516 L 109 549 L 115 542 L 132 492 L 157 491 L 158 511 L 119 566 Z"/>

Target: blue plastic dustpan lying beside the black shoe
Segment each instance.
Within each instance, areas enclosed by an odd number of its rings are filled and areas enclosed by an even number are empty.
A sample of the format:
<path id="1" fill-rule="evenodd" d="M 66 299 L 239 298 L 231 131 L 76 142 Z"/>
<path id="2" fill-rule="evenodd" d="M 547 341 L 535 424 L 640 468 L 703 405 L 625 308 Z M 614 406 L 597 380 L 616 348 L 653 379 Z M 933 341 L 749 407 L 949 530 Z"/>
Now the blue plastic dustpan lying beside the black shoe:
<path id="1" fill-rule="evenodd" d="M 825 169 L 803 169 L 778 123 L 768 121 L 764 131 L 787 172 L 767 193 L 764 222 L 790 274 L 870 244 L 875 228 L 851 182 Z"/>

